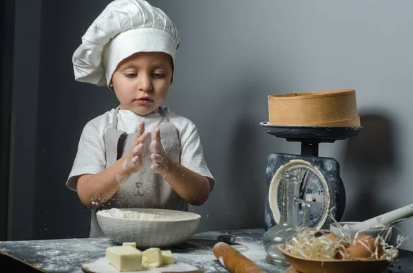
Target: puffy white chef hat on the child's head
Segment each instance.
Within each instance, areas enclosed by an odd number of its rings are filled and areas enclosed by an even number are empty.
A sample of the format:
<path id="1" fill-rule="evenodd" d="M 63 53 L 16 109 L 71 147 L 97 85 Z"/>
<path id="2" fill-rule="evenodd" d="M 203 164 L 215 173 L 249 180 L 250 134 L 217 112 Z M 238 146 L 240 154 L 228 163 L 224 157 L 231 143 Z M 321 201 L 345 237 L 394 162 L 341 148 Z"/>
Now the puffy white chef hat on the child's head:
<path id="1" fill-rule="evenodd" d="M 73 54 L 75 79 L 109 85 L 120 61 L 136 52 L 165 52 L 173 65 L 180 36 L 171 19 L 143 0 L 114 0 L 95 19 Z"/>

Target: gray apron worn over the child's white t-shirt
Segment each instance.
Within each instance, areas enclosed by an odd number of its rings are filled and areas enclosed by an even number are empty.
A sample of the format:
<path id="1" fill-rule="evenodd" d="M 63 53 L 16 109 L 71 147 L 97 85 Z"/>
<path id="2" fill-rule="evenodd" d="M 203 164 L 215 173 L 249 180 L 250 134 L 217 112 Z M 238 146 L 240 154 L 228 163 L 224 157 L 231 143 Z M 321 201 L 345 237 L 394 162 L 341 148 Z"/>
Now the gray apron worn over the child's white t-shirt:
<path id="1" fill-rule="evenodd" d="M 178 130 L 170 122 L 165 110 L 159 107 L 161 118 L 158 122 L 160 139 L 165 153 L 173 160 L 179 161 L 180 141 Z M 112 126 L 105 132 L 106 167 L 111 166 L 121 157 L 124 157 L 136 138 L 136 133 L 127 134 L 116 129 L 118 125 L 117 107 L 114 111 Z M 133 173 L 119 188 L 118 192 L 105 204 L 92 210 L 89 237 L 105 237 L 98 226 L 96 212 L 109 208 L 165 208 L 170 210 L 188 210 L 188 204 L 171 188 L 162 175 L 153 173 L 151 169 L 150 152 L 151 135 L 144 144 L 145 158 L 138 173 Z"/>

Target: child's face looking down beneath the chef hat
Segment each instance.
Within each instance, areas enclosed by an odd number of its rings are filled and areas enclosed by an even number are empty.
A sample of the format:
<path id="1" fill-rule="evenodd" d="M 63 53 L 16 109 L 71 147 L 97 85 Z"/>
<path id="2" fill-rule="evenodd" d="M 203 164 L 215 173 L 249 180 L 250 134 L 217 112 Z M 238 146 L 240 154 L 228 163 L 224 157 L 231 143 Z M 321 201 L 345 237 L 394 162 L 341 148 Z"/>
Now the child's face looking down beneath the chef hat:
<path id="1" fill-rule="evenodd" d="M 119 63 L 109 87 L 120 109 L 147 115 L 165 101 L 172 83 L 172 58 L 163 52 L 139 52 Z"/>

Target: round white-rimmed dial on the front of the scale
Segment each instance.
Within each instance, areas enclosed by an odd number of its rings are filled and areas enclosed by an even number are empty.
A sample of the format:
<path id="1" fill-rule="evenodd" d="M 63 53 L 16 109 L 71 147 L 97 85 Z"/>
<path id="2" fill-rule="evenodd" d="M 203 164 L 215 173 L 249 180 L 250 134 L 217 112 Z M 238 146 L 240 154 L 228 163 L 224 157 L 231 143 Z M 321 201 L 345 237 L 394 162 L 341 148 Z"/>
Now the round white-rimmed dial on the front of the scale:
<path id="1" fill-rule="evenodd" d="M 269 189 L 269 205 L 274 221 L 279 223 L 280 210 L 282 208 L 282 173 L 290 170 L 301 172 L 300 199 L 310 204 L 306 226 L 320 230 L 328 219 L 330 212 L 330 190 L 324 175 L 318 169 L 305 160 L 290 160 L 280 166 L 275 172 Z M 301 222 L 302 210 L 299 211 Z"/>

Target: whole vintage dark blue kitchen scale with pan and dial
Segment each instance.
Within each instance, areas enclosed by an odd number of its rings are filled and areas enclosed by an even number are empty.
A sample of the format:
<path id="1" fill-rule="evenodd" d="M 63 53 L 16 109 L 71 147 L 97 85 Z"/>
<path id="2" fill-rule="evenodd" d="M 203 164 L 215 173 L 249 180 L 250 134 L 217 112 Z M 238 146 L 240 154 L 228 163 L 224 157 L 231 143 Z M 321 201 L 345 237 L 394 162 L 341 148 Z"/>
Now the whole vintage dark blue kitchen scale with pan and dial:
<path id="1" fill-rule="evenodd" d="M 301 142 L 301 154 L 271 153 L 266 166 L 265 230 L 280 219 L 282 173 L 297 169 L 301 173 L 300 199 L 310 204 L 306 226 L 329 229 L 332 217 L 340 221 L 346 206 L 346 190 L 340 165 L 330 157 L 319 157 L 319 143 L 333 143 L 358 135 L 363 127 L 280 126 L 261 122 L 266 133 L 288 142 Z M 300 209 L 301 221 L 303 211 Z"/>

